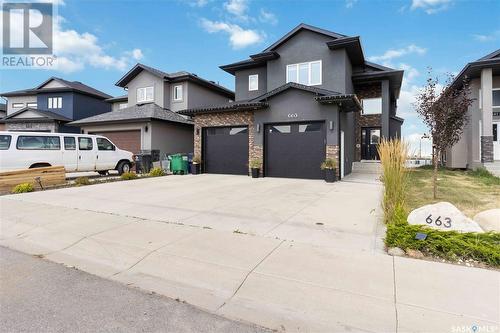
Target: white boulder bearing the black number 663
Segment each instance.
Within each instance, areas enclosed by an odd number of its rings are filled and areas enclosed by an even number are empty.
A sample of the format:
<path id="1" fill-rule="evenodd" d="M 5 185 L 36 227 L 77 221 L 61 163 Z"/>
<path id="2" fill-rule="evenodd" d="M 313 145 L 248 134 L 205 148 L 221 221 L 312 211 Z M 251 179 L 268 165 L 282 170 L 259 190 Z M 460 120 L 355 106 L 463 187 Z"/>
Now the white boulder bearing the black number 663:
<path id="1" fill-rule="evenodd" d="M 408 215 L 408 223 L 426 225 L 444 231 L 484 232 L 479 224 L 449 202 L 438 202 L 415 209 Z"/>

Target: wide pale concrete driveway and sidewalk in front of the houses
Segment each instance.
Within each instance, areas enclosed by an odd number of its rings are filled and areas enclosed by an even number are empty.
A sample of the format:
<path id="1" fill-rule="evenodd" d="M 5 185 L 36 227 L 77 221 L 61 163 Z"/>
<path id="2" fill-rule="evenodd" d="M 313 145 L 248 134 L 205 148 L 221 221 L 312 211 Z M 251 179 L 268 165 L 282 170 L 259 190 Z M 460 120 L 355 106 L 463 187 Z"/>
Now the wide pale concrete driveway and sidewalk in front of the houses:
<path id="1" fill-rule="evenodd" d="M 382 251 L 374 177 L 169 176 L 5 196 L 0 244 L 280 331 L 498 332 L 497 271 Z"/>

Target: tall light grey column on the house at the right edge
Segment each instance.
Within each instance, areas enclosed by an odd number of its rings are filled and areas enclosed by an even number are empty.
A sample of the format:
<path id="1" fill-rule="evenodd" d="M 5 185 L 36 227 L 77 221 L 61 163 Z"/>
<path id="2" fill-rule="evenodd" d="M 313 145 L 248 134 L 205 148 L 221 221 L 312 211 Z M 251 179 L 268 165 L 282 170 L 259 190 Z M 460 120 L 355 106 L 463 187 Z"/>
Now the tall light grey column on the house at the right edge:
<path id="1" fill-rule="evenodd" d="M 493 71 L 485 68 L 481 71 L 481 162 L 493 162 Z"/>

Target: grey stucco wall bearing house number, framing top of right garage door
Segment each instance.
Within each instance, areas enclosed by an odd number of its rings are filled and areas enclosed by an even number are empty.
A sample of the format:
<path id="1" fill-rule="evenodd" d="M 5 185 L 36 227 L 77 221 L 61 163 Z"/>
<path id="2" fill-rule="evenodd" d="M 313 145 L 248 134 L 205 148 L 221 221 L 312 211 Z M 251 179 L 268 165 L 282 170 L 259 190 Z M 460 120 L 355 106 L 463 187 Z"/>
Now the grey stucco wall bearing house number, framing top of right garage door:
<path id="1" fill-rule="evenodd" d="M 325 121 L 326 144 L 339 144 L 339 111 L 337 106 L 323 105 L 314 100 L 314 94 L 296 89 L 289 89 L 270 98 L 269 107 L 255 111 L 254 131 L 260 124 L 260 132 L 255 132 L 255 144 L 262 145 L 264 141 L 264 124 Z M 290 116 L 291 115 L 291 116 Z M 296 116 L 295 116 L 296 115 Z M 333 130 L 329 129 L 329 122 L 333 121 Z"/>

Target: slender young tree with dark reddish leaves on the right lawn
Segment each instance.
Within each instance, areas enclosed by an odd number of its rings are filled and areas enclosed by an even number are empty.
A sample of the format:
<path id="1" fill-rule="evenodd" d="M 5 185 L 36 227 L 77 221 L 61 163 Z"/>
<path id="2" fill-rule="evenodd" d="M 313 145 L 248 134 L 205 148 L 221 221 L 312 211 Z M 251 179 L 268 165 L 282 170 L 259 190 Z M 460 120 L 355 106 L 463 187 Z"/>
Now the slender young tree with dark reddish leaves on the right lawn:
<path id="1" fill-rule="evenodd" d="M 468 82 L 453 82 L 453 79 L 453 75 L 448 74 L 441 90 L 439 79 L 433 78 L 429 69 L 426 85 L 416 96 L 414 104 L 415 110 L 429 127 L 432 137 L 434 199 L 437 197 L 439 157 L 460 140 L 464 126 L 469 121 L 467 110 L 473 101 L 470 98 Z"/>

